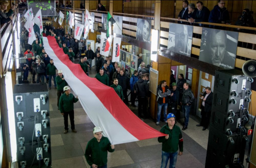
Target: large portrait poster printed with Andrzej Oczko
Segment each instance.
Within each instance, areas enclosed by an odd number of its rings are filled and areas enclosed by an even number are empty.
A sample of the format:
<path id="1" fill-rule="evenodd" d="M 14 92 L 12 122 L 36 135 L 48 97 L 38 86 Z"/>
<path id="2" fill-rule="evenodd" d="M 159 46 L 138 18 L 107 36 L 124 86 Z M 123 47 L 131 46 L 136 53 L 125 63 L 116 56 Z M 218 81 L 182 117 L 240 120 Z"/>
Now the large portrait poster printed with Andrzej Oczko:
<path id="1" fill-rule="evenodd" d="M 238 32 L 203 28 L 199 61 L 234 69 Z"/>

